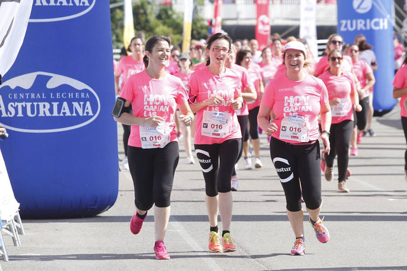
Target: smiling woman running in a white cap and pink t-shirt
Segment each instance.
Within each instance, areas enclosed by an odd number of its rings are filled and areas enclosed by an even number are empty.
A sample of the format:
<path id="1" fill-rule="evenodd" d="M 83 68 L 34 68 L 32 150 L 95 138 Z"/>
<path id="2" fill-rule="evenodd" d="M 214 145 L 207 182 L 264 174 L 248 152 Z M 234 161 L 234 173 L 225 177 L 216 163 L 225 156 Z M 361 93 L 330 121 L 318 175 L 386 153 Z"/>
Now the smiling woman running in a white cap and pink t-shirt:
<path id="1" fill-rule="evenodd" d="M 271 135 L 271 160 L 284 189 L 287 215 L 295 234 L 291 255 L 304 255 L 301 194 L 317 239 L 322 243 L 329 240 L 329 232 L 319 218 L 322 197 L 318 139 L 321 137 L 326 146 L 323 153 L 329 153 L 331 113 L 324 83 L 303 70 L 306 60 L 304 44 L 299 41 L 287 43 L 283 60 L 287 72 L 267 85 L 257 119 L 260 127 Z M 271 110 L 276 119 L 269 122 Z M 319 114 L 323 130 L 320 136 Z"/>

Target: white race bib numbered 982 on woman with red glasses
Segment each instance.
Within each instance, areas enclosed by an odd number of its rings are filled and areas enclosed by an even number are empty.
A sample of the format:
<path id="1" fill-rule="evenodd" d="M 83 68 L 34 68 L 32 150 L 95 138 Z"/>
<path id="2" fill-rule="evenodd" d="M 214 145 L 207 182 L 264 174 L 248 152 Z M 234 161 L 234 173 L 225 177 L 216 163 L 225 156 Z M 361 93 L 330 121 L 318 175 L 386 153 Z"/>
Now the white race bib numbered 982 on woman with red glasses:
<path id="1" fill-rule="evenodd" d="M 224 138 L 232 133 L 232 114 L 204 110 L 201 135 Z"/>

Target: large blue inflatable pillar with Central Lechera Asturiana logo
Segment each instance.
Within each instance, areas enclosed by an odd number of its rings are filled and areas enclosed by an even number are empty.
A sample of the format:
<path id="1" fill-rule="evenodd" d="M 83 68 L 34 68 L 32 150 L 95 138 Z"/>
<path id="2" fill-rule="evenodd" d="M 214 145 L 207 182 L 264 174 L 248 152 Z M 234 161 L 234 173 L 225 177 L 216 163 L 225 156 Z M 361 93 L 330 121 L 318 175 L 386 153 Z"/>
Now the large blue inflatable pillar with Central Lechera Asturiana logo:
<path id="1" fill-rule="evenodd" d="M 116 201 L 109 1 L 34 0 L 0 86 L 1 148 L 21 215 L 88 217 Z"/>

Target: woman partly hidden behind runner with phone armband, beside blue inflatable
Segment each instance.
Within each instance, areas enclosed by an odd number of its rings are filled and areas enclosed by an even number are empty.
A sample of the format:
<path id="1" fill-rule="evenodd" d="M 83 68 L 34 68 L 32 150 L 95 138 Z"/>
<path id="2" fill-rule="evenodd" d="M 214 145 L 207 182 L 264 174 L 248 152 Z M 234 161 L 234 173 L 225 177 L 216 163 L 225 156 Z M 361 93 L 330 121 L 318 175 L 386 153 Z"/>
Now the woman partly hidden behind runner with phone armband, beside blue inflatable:
<path id="1" fill-rule="evenodd" d="M 133 37 L 130 41 L 128 48 L 131 51 L 130 56 L 125 56 L 120 59 L 116 70 L 114 72 L 114 89 L 116 95 L 120 95 L 123 86 L 127 82 L 127 79 L 133 74 L 141 72 L 145 67 L 143 63 L 144 56 L 144 44 L 143 41 L 138 37 Z M 122 76 L 122 84 L 119 86 L 119 78 Z M 130 105 L 131 110 L 131 105 Z M 122 124 L 123 126 L 123 146 L 125 149 L 125 159 L 120 165 L 123 169 L 129 169 L 129 163 L 127 161 L 127 142 L 129 141 L 130 136 L 130 125 Z"/>

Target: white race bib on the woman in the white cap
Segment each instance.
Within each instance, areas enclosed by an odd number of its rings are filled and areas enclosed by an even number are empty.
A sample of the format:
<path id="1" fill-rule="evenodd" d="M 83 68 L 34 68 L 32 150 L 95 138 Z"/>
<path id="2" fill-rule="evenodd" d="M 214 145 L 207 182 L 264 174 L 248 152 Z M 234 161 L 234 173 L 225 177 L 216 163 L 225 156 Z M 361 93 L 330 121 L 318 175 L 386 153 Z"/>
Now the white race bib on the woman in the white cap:
<path id="1" fill-rule="evenodd" d="M 292 115 L 281 121 L 280 139 L 298 142 L 309 141 L 309 124 L 304 117 Z"/>

